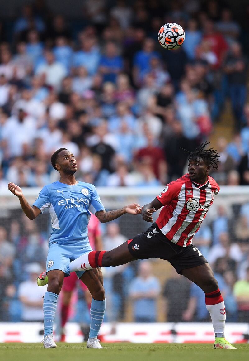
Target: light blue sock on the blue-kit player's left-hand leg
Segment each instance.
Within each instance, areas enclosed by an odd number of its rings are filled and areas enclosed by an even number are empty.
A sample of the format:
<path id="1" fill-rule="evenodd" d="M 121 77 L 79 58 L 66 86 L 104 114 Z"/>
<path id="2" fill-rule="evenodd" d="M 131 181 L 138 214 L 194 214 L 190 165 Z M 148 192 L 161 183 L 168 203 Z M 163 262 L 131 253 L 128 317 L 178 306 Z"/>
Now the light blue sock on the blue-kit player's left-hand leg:
<path id="1" fill-rule="evenodd" d="M 54 316 L 57 307 L 58 295 L 53 292 L 46 292 L 43 301 L 43 314 L 44 314 L 44 337 L 53 335 Z"/>

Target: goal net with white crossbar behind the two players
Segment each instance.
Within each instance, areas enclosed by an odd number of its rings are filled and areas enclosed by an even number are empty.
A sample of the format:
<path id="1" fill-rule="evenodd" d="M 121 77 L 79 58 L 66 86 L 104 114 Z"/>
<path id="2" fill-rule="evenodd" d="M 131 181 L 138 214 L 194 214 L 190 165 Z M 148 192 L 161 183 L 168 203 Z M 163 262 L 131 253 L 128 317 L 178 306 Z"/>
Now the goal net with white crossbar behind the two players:
<path id="1" fill-rule="evenodd" d="M 106 210 L 112 210 L 133 202 L 149 203 L 162 188 L 98 188 L 98 192 Z M 38 188 L 23 189 L 30 204 L 39 191 Z M 1 191 L 0 203 L 0 250 L 3 250 L 0 254 L 0 320 L 22 321 L 18 287 L 28 277 L 28 264 L 38 263 L 42 269 L 46 268 L 50 216 L 46 211 L 35 221 L 30 221 L 23 214 L 18 198 L 8 190 Z M 159 212 L 153 215 L 154 219 Z M 128 214 L 101 225 L 103 249 L 116 247 L 148 226 L 150 224 L 140 215 Z M 240 280 L 248 278 L 249 188 L 223 186 L 193 243 L 214 269 L 226 302 L 228 321 L 240 322 L 241 304 L 235 290 L 240 288 Z M 9 245 L 9 249 L 3 244 Z M 177 275 L 169 262 L 152 259 L 144 264 L 134 261 L 129 265 L 102 269 L 106 321 L 209 320 L 203 292 Z M 242 311 L 249 314 L 249 302 L 247 308 L 243 305 Z M 79 288 L 70 320 L 84 323 L 89 317 L 87 314 L 84 292 Z M 245 317 L 244 321 L 248 322 L 248 319 Z"/>

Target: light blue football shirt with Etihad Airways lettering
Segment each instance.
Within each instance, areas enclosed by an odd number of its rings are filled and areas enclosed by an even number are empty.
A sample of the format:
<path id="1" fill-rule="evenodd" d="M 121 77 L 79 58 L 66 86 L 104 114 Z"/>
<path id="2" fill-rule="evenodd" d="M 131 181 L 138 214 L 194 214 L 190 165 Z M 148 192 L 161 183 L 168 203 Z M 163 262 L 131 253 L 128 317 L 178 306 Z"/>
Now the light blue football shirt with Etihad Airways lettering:
<path id="1" fill-rule="evenodd" d="M 44 186 L 34 204 L 41 213 L 48 208 L 52 232 L 51 243 L 86 245 L 90 212 L 105 210 L 93 184 L 79 182 L 70 186 L 59 181 Z"/>

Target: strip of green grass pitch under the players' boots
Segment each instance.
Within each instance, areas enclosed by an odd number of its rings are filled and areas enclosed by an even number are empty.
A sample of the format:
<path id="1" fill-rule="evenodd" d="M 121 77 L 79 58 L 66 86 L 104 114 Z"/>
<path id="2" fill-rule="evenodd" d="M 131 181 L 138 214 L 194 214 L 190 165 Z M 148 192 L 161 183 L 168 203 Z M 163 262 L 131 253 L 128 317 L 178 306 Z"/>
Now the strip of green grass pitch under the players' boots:
<path id="1" fill-rule="evenodd" d="M 2 343 L 1 361 L 248 361 L 249 344 L 236 350 L 215 350 L 213 344 L 108 343 L 104 349 L 87 349 L 86 344 L 57 343 L 55 349 L 42 344 Z"/>

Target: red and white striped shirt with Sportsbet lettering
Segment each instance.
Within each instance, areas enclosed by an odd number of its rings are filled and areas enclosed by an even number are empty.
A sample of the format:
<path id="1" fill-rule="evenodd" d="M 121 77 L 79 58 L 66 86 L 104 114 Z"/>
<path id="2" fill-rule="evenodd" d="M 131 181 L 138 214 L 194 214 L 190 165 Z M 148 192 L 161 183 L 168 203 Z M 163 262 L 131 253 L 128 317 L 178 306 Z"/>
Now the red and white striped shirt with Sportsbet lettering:
<path id="1" fill-rule="evenodd" d="M 219 186 L 212 177 L 208 176 L 205 184 L 197 184 L 188 173 L 183 175 L 156 197 L 164 205 L 157 226 L 171 242 L 182 247 L 192 244 L 218 192 Z"/>

